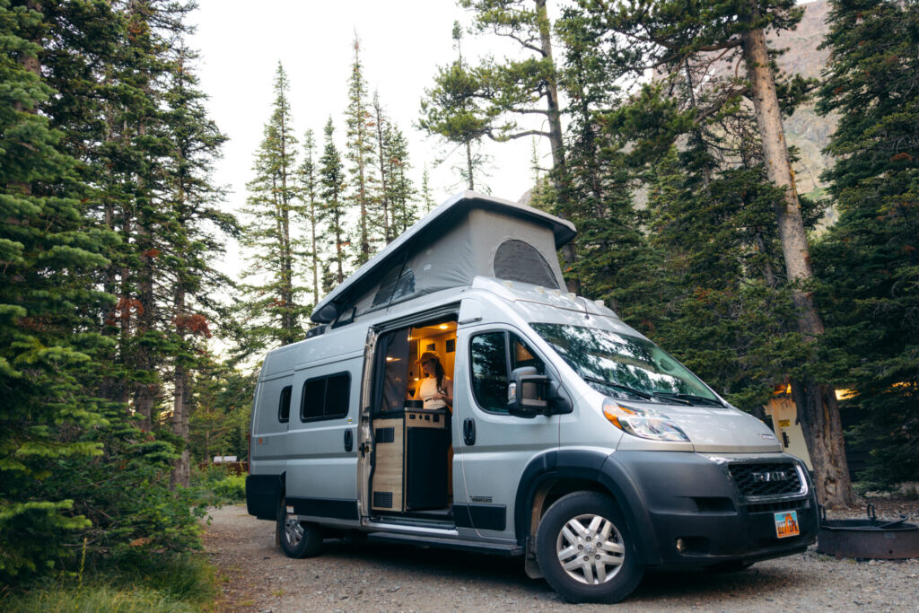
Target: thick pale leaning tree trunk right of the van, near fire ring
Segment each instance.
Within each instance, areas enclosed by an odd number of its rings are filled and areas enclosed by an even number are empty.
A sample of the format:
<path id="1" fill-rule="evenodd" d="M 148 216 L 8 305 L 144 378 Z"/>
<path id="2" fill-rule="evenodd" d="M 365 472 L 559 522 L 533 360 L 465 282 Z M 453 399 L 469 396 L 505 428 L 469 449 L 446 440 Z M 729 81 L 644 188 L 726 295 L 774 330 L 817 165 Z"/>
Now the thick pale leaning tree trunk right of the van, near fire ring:
<path id="1" fill-rule="evenodd" d="M 811 292 L 804 289 L 813 278 L 811 256 L 782 130 L 766 34 L 762 29 L 743 34 L 743 59 L 752 88 L 756 123 L 763 141 L 766 176 L 785 190 L 785 198 L 777 203 L 776 216 L 785 267 L 798 312 L 798 330 L 810 342 L 816 343 L 823 335 L 823 319 L 814 306 Z M 843 429 L 833 386 L 809 379 L 797 382 L 794 387 L 798 419 L 807 440 L 821 502 L 829 507 L 857 505 L 857 496 L 849 480 Z"/>

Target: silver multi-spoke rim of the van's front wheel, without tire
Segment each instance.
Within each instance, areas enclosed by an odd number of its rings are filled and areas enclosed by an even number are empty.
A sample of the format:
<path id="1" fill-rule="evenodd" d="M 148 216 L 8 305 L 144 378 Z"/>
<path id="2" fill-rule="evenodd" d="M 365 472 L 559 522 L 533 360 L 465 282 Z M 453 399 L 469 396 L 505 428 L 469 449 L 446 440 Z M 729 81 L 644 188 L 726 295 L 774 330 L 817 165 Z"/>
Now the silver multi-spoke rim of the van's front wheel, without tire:
<path id="1" fill-rule="evenodd" d="M 622 535 L 616 526 L 595 514 L 569 519 L 559 531 L 555 552 L 565 573 L 586 585 L 607 583 L 626 559 Z"/>

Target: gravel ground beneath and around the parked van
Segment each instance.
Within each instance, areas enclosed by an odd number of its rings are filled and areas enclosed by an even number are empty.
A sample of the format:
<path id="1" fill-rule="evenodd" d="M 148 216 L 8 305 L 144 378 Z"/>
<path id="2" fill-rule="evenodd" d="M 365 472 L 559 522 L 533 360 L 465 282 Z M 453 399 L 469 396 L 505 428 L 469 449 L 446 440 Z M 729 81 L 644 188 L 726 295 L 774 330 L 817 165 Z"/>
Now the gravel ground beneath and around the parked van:
<path id="1" fill-rule="evenodd" d="M 873 501 L 878 517 L 919 521 L 919 502 Z M 568 610 L 523 562 L 370 541 L 327 540 L 317 558 L 291 560 L 274 524 L 244 506 L 212 509 L 205 546 L 221 569 L 221 611 Z M 829 518 L 864 517 L 863 513 Z M 578 611 L 606 610 L 582 605 Z M 835 560 L 806 553 L 741 573 L 649 573 L 617 611 L 919 611 L 919 559 Z"/>

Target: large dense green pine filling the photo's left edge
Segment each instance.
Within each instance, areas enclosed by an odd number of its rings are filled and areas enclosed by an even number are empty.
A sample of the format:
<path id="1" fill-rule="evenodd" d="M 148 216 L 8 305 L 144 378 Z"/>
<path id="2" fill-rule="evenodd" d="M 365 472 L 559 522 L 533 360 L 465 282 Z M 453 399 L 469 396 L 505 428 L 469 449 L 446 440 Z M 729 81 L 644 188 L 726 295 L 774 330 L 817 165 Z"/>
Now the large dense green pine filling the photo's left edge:
<path id="1" fill-rule="evenodd" d="M 103 296 L 89 272 L 108 237 L 85 229 L 74 159 L 38 112 L 55 96 L 41 79 L 43 16 L 0 0 L 0 577 L 51 571 L 67 534 L 89 525 L 46 485 L 92 458 L 74 433 L 104 426 L 80 384 L 104 340 L 85 309 Z"/>

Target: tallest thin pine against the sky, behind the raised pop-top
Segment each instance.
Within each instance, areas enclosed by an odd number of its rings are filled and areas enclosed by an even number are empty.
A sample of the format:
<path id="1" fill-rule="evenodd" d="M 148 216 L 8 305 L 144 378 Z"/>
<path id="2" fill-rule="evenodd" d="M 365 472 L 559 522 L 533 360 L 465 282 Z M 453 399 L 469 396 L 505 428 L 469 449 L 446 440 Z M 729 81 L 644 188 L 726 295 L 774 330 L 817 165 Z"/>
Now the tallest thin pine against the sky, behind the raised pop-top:
<path id="1" fill-rule="evenodd" d="M 377 178 L 373 176 L 370 165 L 374 153 L 371 139 L 373 126 L 367 96 L 367 81 L 364 79 L 363 64 L 360 63 L 360 40 L 356 36 L 354 63 L 351 64 L 351 76 L 348 79 L 345 156 L 350 162 L 350 200 L 357 211 L 355 264 L 358 267 L 367 262 L 373 253 L 370 244 L 376 240 L 374 234 L 378 223 L 374 218 L 376 207 L 373 193 Z"/>

